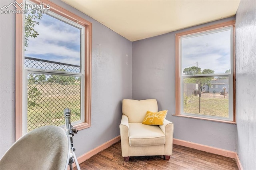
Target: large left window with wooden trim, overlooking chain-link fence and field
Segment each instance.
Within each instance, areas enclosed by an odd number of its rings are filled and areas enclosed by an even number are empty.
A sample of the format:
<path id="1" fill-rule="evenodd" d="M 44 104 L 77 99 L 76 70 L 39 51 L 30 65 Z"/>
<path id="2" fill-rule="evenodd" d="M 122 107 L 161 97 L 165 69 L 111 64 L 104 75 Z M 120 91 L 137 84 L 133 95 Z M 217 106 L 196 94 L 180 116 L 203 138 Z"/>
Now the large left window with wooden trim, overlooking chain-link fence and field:
<path id="1" fill-rule="evenodd" d="M 78 130 L 90 127 L 91 23 L 49 1 L 23 3 L 28 12 L 16 14 L 16 139 L 41 126 L 63 127 L 65 108 Z"/>

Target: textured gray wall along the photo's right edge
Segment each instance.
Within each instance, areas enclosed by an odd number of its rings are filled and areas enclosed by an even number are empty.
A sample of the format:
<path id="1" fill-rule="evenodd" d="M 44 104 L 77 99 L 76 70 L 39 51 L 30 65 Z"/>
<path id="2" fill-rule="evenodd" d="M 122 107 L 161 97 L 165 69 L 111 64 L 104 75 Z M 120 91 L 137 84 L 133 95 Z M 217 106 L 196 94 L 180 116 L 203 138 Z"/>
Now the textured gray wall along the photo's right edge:
<path id="1" fill-rule="evenodd" d="M 256 169 L 256 1 L 241 0 L 236 14 L 237 152 L 244 170 Z"/>

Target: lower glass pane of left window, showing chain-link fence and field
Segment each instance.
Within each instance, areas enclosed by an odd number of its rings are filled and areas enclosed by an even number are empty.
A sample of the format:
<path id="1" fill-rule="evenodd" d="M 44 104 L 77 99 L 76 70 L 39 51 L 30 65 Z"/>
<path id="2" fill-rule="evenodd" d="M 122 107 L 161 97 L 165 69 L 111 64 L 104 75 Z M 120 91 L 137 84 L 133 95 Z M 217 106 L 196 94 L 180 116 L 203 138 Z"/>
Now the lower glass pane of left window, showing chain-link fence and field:
<path id="1" fill-rule="evenodd" d="M 63 111 L 72 122 L 81 119 L 81 77 L 28 73 L 28 131 L 46 125 L 64 125 Z"/>

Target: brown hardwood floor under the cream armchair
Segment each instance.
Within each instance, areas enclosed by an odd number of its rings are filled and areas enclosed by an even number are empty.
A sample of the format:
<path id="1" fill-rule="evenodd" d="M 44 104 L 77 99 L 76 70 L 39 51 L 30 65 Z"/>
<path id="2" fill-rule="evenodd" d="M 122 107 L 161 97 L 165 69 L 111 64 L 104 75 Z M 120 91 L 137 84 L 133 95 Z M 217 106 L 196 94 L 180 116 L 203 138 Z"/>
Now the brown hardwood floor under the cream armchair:
<path id="1" fill-rule="evenodd" d="M 236 160 L 200 150 L 173 145 L 169 161 L 163 156 L 134 156 L 124 162 L 117 142 L 80 164 L 81 170 L 238 170 Z M 76 169 L 76 168 L 74 168 Z"/>

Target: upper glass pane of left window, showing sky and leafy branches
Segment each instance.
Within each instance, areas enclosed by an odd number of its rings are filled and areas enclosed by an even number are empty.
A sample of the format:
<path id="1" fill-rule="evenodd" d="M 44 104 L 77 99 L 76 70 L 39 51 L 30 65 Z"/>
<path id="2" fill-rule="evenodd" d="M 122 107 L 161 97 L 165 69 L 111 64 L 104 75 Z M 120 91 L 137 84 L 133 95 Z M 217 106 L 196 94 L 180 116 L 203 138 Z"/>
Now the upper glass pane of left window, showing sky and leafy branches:
<path id="1" fill-rule="evenodd" d="M 47 14 L 26 14 L 26 68 L 80 73 L 80 53 L 80 28 Z M 52 61 L 52 64 L 49 66 L 46 62 L 50 63 L 50 61 Z M 64 69 L 60 66 L 62 64 L 75 66 L 76 69 Z"/>

